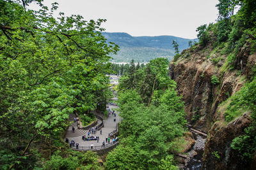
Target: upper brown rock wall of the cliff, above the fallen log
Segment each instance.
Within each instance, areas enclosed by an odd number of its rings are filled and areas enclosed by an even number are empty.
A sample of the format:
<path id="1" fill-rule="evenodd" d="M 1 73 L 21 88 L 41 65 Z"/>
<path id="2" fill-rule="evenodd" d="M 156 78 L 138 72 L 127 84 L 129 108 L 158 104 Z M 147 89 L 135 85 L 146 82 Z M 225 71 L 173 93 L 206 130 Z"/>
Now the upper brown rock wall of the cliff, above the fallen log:
<path id="1" fill-rule="evenodd" d="M 243 87 L 251 74 L 250 65 L 255 64 L 255 55 L 250 48 L 241 49 L 236 60 L 236 71 L 223 71 L 226 56 L 209 45 L 204 49 L 196 46 L 181 53 L 177 62 L 171 62 L 169 76 L 177 82 L 178 94 L 185 102 L 187 120 L 201 131 L 209 131 L 212 123 L 221 118 L 218 105 Z M 220 83 L 212 83 L 216 76 Z"/>

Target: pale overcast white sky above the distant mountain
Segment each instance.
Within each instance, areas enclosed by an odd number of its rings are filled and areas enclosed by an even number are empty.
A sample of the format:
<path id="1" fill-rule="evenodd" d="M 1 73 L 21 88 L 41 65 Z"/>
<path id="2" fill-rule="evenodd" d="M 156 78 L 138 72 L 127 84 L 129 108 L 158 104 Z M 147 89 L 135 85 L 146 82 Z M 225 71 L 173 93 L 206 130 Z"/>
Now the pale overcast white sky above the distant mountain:
<path id="1" fill-rule="evenodd" d="M 51 6 L 52 0 L 45 0 Z M 196 38 L 196 28 L 216 22 L 218 0 L 56 0 L 58 11 L 84 20 L 107 19 L 106 32 L 131 36 Z M 33 6 L 31 7 L 33 8 Z"/>

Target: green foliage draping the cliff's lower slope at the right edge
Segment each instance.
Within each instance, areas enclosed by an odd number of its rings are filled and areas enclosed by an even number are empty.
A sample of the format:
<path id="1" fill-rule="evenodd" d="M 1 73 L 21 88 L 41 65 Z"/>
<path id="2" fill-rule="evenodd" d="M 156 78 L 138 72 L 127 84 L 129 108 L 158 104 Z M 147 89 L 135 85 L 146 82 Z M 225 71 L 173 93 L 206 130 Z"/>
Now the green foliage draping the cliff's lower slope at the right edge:
<path id="1" fill-rule="evenodd" d="M 236 150 L 244 162 L 250 162 L 256 149 L 256 78 L 246 83 L 239 92 L 230 97 L 230 104 L 225 111 L 227 122 L 239 117 L 245 111 L 252 112 L 253 123 L 244 130 L 244 134 L 234 138 L 231 147 Z"/>

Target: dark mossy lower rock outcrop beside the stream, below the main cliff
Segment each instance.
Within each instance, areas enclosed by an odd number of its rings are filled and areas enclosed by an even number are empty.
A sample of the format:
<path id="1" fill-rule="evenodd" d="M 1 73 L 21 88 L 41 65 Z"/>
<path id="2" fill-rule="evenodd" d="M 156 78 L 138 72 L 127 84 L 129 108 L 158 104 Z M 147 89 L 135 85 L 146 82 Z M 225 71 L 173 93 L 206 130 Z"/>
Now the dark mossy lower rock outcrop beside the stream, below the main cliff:
<path id="1" fill-rule="evenodd" d="M 249 113 L 237 118 L 228 125 L 216 122 L 209 131 L 205 143 L 202 169 L 244 169 L 244 165 L 236 151 L 232 150 L 230 144 L 237 136 L 244 133 L 244 129 L 252 124 Z M 214 156 L 216 153 L 220 158 Z"/>

